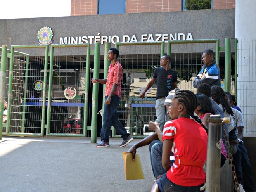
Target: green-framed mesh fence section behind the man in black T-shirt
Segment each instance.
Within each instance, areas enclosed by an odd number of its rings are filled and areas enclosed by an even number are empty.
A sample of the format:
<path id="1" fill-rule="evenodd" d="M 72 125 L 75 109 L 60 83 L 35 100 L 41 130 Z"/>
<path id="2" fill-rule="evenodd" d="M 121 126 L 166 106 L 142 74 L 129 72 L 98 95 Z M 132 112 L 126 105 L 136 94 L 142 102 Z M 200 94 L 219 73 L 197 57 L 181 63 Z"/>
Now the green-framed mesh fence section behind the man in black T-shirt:
<path id="1" fill-rule="evenodd" d="M 149 121 L 156 119 L 155 100 L 156 84 L 147 91 L 145 98 L 140 99 L 140 93 L 145 89 L 154 73 L 154 69 L 159 66 L 162 55 L 171 56 L 171 68 L 178 73 L 178 87 L 196 92 L 193 87 L 194 78 L 201 71 L 202 52 L 212 49 L 216 55 L 216 63 L 227 66 L 224 61 L 220 61 L 221 50 L 230 50 L 227 47 L 220 47 L 218 39 L 209 40 L 173 40 L 165 42 L 137 42 L 137 43 L 116 43 L 119 49 L 119 62 L 123 66 L 122 95 L 119 105 L 119 119 L 126 129 L 138 137 L 152 134 L 147 125 Z M 167 48 L 167 49 L 166 49 Z M 230 55 L 231 52 L 228 52 Z M 228 59 L 225 62 L 230 62 Z M 229 68 L 221 68 L 220 71 L 225 89 L 230 89 L 231 73 Z M 107 68 L 105 68 L 107 70 Z M 224 84 L 224 76 L 225 82 Z M 228 83 L 227 83 L 228 82 Z"/>

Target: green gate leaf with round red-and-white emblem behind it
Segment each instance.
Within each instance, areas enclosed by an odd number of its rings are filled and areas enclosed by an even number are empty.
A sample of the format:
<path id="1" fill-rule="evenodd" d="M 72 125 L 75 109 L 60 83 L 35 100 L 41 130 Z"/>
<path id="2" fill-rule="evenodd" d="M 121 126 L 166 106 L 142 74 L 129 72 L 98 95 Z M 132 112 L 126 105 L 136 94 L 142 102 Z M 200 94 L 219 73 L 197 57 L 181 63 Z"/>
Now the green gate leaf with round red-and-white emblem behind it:
<path id="1" fill-rule="evenodd" d="M 51 45 L 47 100 L 50 136 L 87 136 L 90 44 Z"/>

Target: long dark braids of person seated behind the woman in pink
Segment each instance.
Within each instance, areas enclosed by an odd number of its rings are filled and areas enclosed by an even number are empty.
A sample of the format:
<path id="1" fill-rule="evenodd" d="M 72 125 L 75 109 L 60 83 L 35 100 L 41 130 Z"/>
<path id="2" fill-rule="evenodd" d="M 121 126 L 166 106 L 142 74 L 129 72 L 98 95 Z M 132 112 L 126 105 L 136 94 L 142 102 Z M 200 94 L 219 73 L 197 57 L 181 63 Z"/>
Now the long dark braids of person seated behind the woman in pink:
<path id="1" fill-rule="evenodd" d="M 225 93 L 223 88 L 221 88 L 220 86 L 214 85 L 211 87 L 211 94 L 214 96 L 214 101 L 222 105 L 224 113 L 230 114 L 232 116 L 234 115 L 230 105 L 228 104 L 225 98 Z"/>

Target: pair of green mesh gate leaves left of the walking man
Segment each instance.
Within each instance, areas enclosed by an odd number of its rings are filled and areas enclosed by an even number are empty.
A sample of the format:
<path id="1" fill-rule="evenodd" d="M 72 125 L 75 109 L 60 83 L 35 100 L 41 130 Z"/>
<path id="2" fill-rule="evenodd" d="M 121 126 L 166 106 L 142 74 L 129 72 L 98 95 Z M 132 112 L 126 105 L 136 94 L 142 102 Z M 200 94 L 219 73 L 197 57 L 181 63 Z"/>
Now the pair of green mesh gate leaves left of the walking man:
<path id="1" fill-rule="evenodd" d="M 48 51 L 49 45 L 12 45 L 4 135 L 87 136 L 90 45 Z"/>

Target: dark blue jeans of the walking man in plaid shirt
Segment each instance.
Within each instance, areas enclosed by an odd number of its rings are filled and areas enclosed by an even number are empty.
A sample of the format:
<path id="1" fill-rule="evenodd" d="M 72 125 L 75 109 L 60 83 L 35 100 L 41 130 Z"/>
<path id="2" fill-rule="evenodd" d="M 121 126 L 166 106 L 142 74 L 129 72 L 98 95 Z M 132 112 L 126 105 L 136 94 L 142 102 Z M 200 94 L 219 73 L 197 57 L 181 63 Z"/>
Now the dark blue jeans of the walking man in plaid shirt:
<path id="1" fill-rule="evenodd" d="M 105 97 L 106 101 L 107 97 Z M 117 107 L 119 106 L 120 98 L 117 95 L 112 95 L 109 105 L 104 105 L 103 125 L 100 132 L 100 140 L 109 141 L 111 126 L 113 126 L 117 133 L 125 140 L 130 134 L 127 133 L 121 122 L 117 119 Z"/>

